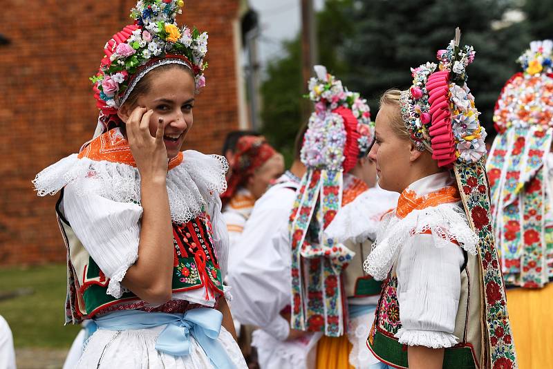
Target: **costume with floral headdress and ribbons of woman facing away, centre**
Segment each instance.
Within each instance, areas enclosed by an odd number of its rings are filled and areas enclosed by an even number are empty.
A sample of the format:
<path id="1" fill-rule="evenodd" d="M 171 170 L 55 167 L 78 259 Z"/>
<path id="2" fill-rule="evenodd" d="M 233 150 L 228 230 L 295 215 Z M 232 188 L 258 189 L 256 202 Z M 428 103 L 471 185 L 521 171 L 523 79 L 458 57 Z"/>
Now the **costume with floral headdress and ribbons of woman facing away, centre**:
<path id="1" fill-rule="evenodd" d="M 374 124 L 365 100 L 347 91 L 323 66 L 315 71 L 317 77 L 309 82 L 315 112 L 301 147 L 307 171 L 290 216 L 290 324 L 321 336 L 318 368 L 367 368 L 371 359 L 376 361 L 365 339 L 380 285 L 364 274 L 362 263 L 376 228 L 371 218 L 379 220 L 395 198 L 386 201 L 383 196 L 387 205 L 377 206 L 378 195 L 371 190 L 385 191 L 368 189 L 349 173 L 373 142 Z M 357 213 L 359 208 L 366 209 L 364 216 Z"/>

